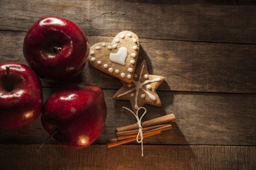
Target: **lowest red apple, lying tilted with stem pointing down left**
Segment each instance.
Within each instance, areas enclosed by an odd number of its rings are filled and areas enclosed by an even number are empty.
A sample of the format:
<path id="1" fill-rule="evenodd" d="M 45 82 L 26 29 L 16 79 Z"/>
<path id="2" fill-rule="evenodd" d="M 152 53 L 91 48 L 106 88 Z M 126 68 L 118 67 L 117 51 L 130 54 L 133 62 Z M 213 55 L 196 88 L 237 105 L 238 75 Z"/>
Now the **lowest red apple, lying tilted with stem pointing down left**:
<path id="1" fill-rule="evenodd" d="M 73 84 L 56 92 L 43 106 L 41 121 L 46 131 L 63 147 L 82 148 L 102 132 L 107 106 L 102 89 Z"/>

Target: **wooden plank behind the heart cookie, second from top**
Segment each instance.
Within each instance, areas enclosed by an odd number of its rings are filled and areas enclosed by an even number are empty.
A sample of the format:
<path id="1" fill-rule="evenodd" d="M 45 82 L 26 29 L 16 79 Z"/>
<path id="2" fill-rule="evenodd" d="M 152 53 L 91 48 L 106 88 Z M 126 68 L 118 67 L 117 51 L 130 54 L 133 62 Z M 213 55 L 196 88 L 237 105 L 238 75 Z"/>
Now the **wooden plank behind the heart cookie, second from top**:
<path id="1" fill-rule="evenodd" d="M 22 52 L 26 33 L 0 31 L 0 62 L 27 64 Z M 90 43 L 110 42 L 112 37 L 89 37 Z M 139 62 L 149 73 L 166 77 L 159 90 L 256 93 L 256 45 L 150 40 L 141 38 Z M 97 78 L 96 78 L 97 77 Z M 43 86 L 64 86 L 84 81 L 102 89 L 119 89 L 118 79 L 90 67 L 71 81 L 42 81 Z"/>

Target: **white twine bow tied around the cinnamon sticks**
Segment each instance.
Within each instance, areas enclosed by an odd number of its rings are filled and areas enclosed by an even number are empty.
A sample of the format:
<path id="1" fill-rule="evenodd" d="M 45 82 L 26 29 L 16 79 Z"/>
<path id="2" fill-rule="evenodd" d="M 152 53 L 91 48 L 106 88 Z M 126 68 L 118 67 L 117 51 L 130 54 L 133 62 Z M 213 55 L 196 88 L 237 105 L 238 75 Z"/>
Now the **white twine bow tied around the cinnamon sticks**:
<path id="1" fill-rule="evenodd" d="M 130 111 L 130 112 L 135 116 L 135 118 L 137 119 L 137 123 L 138 123 L 138 125 L 139 125 L 139 132 L 138 132 L 138 135 L 137 135 L 137 142 L 138 142 L 138 143 L 142 143 L 142 157 L 143 157 L 144 154 L 143 154 L 142 118 L 143 118 L 143 116 L 146 114 L 146 108 L 140 107 L 140 108 L 138 108 L 138 110 L 137 110 L 136 113 L 134 113 L 134 112 L 131 111 L 129 108 L 126 108 L 126 107 L 124 107 L 124 106 L 123 106 L 122 108 L 125 108 L 127 111 Z M 140 111 L 141 109 L 144 109 L 144 113 L 143 113 L 142 116 L 139 118 L 138 113 L 139 113 L 139 111 Z M 141 137 L 141 140 L 139 140 L 139 136 Z"/>

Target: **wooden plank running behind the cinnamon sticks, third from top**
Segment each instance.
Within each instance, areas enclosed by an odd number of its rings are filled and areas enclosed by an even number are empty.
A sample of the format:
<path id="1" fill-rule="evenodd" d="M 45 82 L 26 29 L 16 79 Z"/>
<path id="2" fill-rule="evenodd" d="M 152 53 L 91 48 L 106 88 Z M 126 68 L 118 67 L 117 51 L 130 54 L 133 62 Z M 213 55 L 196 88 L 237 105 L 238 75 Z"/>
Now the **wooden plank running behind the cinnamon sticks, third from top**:
<path id="1" fill-rule="evenodd" d="M 44 99 L 57 89 L 44 88 Z M 102 134 L 95 144 L 114 138 L 115 128 L 136 123 L 134 116 L 122 106 L 128 101 L 112 99 L 114 90 L 104 90 L 108 115 Z M 163 107 L 146 106 L 143 120 L 174 113 L 172 130 L 144 140 L 161 145 L 256 145 L 256 95 L 209 94 L 159 91 Z M 0 130 L 0 144 L 41 144 L 48 134 L 40 119 L 18 130 Z M 55 144 L 51 139 L 48 144 Z M 132 142 L 136 144 L 136 142 Z"/>

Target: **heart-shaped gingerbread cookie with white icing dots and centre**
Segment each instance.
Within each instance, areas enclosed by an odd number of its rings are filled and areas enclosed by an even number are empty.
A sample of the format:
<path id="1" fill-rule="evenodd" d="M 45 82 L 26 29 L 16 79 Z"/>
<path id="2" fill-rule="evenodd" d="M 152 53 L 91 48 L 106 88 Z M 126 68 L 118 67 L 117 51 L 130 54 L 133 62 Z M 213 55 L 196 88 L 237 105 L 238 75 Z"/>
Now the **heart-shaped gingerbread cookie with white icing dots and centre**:
<path id="1" fill-rule="evenodd" d="M 92 67 L 130 83 L 139 55 L 139 38 L 130 31 L 117 34 L 112 42 L 99 42 L 90 47 Z"/>

